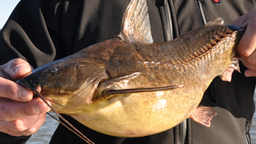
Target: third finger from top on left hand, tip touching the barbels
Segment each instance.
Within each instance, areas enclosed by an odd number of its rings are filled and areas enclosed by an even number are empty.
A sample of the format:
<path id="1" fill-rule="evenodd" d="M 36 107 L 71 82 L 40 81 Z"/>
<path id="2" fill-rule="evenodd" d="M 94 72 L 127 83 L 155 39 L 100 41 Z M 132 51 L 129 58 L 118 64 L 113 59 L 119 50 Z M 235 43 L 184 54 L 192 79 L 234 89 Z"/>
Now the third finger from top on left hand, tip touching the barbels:
<path id="1" fill-rule="evenodd" d="M 42 99 L 32 99 L 31 102 L 15 102 L 10 99 L 0 100 L 0 120 L 15 121 L 31 115 L 39 115 L 50 110 Z"/>

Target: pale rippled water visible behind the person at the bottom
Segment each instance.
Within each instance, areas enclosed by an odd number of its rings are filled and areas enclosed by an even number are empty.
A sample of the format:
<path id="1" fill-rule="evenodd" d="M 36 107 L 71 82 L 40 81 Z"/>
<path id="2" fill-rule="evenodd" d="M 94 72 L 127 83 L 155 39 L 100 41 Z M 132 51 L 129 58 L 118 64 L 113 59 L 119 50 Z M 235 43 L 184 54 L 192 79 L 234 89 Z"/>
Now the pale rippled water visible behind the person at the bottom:
<path id="1" fill-rule="evenodd" d="M 256 104 L 256 94 L 255 94 Z M 51 113 L 53 114 L 53 113 Z M 58 126 L 59 122 L 47 115 L 45 124 L 39 129 L 36 134 L 33 134 L 26 144 L 46 144 L 49 143 L 50 137 Z M 250 130 L 252 144 L 256 144 L 256 112 L 253 117 L 252 127 Z"/>

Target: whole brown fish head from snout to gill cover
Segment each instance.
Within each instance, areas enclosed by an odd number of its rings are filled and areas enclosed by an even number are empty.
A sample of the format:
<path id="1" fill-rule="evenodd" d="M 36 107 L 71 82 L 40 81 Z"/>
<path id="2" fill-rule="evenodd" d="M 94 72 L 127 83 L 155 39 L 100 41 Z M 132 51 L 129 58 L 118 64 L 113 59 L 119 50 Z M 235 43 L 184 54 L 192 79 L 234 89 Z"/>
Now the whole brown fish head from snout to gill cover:
<path id="1" fill-rule="evenodd" d="M 106 77 L 104 67 L 93 62 L 78 61 L 71 56 L 34 69 L 31 75 L 17 83 L 35 93 L 38 91 L 44 99 L 53 102 L 53 107 L 54 103 L 78 107 L 79 104 L 91 103 L 99 81 Z"/>

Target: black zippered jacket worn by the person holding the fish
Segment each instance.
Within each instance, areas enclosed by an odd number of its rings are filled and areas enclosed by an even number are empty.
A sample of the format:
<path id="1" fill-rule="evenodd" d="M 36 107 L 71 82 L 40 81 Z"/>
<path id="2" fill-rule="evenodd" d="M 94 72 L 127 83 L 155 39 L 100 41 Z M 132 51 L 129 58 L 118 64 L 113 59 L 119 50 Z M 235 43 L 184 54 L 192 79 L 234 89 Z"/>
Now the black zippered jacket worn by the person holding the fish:
<path id="1" fill-rule="evenodd" d="M 256 8 L 253 0 L 148 0 L 154 42 L 164 42 L 202 26 L 217 17 L 230 24 Z M 21 0 L 0 35 L 0 64 L 24 58 L 34 68 L 69 56 L 119 34 L 121 19 L 130 0 Z M 255 110 L 255 77 L 233 73 L 232 82 L 216 77 L 200 105 L 214 107 L 218 115 L 211 127 L 190 118 L 184 123 L 147 137 L 112 137 L 94 132 L 65 116 L 94 143 L 249 143 L 249 125 Z M 29 137 L 0 134 L 0 143 L 24 143 Z M 59 126 L 50 143 L 85 143 Z"/>

